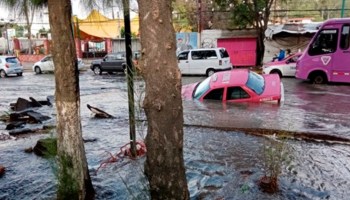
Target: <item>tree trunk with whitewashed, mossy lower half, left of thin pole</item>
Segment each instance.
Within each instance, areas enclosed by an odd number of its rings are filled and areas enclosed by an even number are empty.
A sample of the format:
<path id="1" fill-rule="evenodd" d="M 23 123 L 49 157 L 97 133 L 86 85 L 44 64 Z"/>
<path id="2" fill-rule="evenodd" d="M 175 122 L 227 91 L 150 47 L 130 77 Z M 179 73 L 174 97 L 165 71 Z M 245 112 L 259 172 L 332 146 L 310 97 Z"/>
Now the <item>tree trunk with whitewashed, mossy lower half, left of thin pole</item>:
<path id="1" fill-rule="evenodd" d="M 80 123 L 79 72 L 70 0 L 49 0 L 57 109 L 57 199 L 93 199 Z"/>

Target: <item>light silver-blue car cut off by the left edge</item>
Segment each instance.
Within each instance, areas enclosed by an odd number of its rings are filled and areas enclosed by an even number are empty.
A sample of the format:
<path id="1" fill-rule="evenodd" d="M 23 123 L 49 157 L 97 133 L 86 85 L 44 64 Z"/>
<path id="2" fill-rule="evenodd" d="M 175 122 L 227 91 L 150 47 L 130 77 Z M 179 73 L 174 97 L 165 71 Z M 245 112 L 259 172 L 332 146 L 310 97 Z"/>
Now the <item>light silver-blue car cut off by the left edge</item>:
<path id="1" fill-rule="evenodd" d="M 0 77 L 8 75 L 22 76 L 23 66 L 16 56 L 0 56 Z"/>

